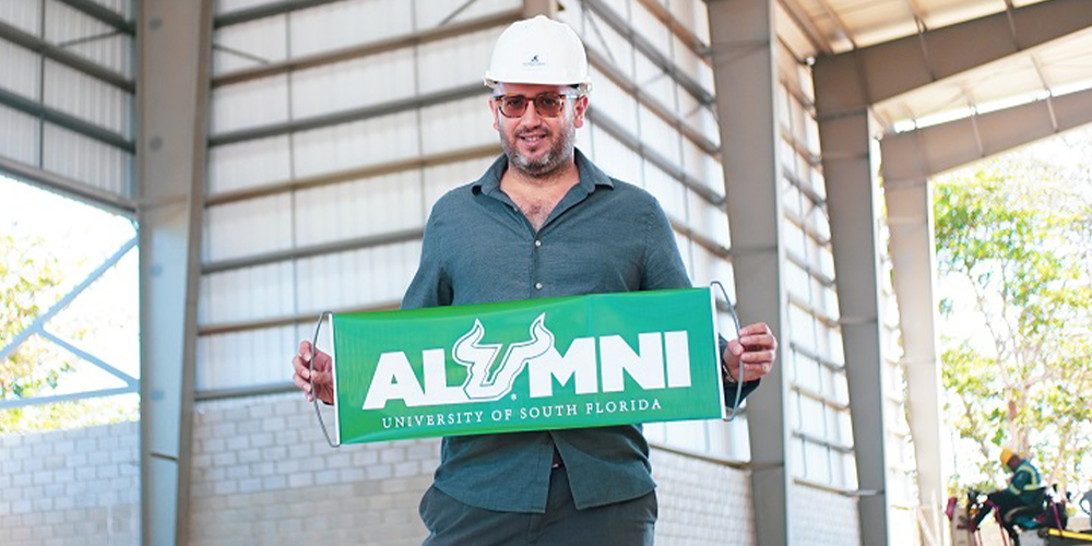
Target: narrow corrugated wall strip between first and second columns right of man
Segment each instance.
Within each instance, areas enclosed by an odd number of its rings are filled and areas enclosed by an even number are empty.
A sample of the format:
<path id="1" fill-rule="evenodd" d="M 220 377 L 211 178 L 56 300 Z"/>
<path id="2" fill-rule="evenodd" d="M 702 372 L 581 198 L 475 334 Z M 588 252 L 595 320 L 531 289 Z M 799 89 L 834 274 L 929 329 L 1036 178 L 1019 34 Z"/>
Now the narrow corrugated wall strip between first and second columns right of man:
<path id="1" fill-rule="evenodd" d="M 792 20 L 779 10 L 778 122 L 785 215 L 785 285 L 788 346 L 782 363 L 791 393 L 786 414 L 793 435 L 790 454 L 800 486 L 835 490 L 857 487 L 850 423 L 850 395 L 842 353 L 841 313 L 826 180 L 819 150 L 815 92 L 806 56 L 811 55 Z"/>

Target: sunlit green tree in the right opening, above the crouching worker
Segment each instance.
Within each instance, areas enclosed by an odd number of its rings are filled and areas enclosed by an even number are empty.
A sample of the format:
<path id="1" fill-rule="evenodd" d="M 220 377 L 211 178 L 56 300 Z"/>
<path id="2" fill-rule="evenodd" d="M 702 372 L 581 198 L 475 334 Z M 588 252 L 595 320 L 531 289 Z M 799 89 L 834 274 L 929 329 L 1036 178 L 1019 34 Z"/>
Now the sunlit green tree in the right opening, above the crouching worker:
<path id="1" fill-rule="evenodd" d="M 1030 454 L 1048 484 L 1083 485 L 1092 471 L 1081 467 L 1092 453 L 1089 173 L 1023 152 L 935 183 L 950 293 L 941 331 L 958 332 L 941 339 L 948 413 L 992 487 L 1004 479 L 1002 446 Z"/>

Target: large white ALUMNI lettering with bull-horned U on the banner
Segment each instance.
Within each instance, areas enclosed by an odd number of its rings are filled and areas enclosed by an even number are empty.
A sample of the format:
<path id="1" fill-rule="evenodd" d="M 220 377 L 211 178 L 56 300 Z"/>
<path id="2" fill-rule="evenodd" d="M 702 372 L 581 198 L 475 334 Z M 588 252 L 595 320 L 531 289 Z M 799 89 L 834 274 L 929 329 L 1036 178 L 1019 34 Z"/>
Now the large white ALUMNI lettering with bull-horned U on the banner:
<path id="1" fill-rule="evenodd" d="M 531 323 L 529 334 L 527 340 L 510 343 L 497 364 L 503 344 L 483 343 L 486 330 L 475 319 L 451 348 L 452 359 L 466 368 L 466 379 L 459 385 L 447 384 L 443 348 L 422 352 L 424 382 L 418 381 L 404 352 L 383 353 L 364 410 L 380 410 L 391 400 L 402 400 L 410 407 L 497 401 L 511 393 L 524 370 L 531 397 L 550 396 L 555 382 L 566 387 L 570 381 L 578 395 L 621 392 L 625 376 L 644 390 L 690 387 L 686 331 L 640 333 L 636 349 L 620 335 L 577 337 L 563 355 L 546 328 L 546 313 Z"/>

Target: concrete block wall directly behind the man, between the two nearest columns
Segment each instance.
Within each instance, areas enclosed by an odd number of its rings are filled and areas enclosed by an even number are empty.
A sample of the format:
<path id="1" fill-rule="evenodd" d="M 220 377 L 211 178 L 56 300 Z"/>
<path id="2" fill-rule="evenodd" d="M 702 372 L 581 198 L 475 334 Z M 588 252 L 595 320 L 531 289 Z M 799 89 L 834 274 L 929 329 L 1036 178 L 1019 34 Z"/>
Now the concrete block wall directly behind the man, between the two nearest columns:
<path id="1" fill-rule="evenodd" d="M 329 448 L 302 396 L 198 404 L 190 503 L 200 546 L 404 546 L 427 534 L 417 505 L 438 440 Z M 653 451 L 661 546 L 751 544 L 747 473 Z"/>

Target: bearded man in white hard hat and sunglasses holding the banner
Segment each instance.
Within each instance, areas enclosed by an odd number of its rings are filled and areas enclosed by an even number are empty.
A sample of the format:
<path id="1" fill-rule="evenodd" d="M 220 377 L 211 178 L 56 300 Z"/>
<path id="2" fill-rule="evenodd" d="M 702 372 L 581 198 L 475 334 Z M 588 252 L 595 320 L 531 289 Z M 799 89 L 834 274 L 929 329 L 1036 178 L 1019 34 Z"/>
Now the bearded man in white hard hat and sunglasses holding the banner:
<path id="1" fill-rule="evenodd" d="M 436 203 L 403 308 L 690 286 L 656 200 L 574 149 L 590 82 L 571 28 L 544 16 L 514 23 L 486 84 L 505 155 Z M 773 365 L 765 324 L 721 345 L 729 395 Z M 294 358 L 309 397 L 310 353 L 304 342 Z M 314 367 L 314 394 L 331 402 L 329 356 Z M 425 545 L 652 544 L 654 488 L 639 426 L 444 438 L 420 503 Z"/>

